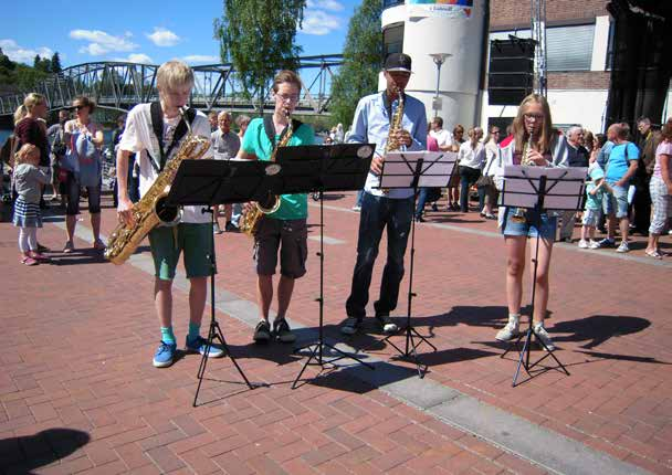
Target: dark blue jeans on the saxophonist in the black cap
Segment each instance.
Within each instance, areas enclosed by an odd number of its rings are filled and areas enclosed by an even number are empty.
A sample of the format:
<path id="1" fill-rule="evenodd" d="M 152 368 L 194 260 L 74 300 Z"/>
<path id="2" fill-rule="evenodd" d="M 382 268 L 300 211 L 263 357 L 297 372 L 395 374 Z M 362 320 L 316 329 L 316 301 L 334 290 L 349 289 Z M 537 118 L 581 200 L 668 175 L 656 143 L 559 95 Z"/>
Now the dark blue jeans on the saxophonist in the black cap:
<path id="1" fill-rule="evenodd" d="M 345 307 L 349 317 L 364 318 L 369 302 L 369 286 L 382 230 L 387 226 L 387 263 L 382 271 L 380 298 L 374 304 L 376 315 L 389 315 L 397 308 L 399 285 L 403 277 L 403 255 L 413 215 L 413 197 L 393 200 L 364 193 L 359 214 L 357 263 L 353 286 Z"/>

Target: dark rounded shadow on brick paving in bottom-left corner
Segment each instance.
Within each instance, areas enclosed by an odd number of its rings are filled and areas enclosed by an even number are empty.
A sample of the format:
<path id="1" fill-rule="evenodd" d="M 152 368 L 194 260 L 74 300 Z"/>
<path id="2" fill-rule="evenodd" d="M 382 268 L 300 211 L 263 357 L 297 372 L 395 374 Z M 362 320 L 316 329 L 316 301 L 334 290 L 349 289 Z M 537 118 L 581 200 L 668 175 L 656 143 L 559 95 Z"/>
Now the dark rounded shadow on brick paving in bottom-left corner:
<path id="1" fill-rule="evenodd" d="M 34 435 L 0 440 L 0 461 L 8 472 L 31 473 L 65 458 L 86 445 L 91 436 L 73 429 L 48 429 Z"/>

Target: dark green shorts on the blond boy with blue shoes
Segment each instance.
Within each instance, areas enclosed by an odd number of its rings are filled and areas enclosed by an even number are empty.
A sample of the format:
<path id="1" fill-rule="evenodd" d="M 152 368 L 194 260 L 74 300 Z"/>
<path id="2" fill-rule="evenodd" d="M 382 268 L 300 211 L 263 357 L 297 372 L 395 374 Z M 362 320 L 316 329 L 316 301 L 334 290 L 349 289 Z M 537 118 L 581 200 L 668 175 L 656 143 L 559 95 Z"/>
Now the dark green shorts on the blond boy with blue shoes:
<path id="1" fill-rule="evenodd" d="M 172 281 L 175 270 L 185 251 L 187 278 L 208 277 L 212 274 L 210 249 L 212 224 L 179 223 L 176 228 L 157 226 L 149 231 L 149 245 L 154 258 L 155 276 Z"/>

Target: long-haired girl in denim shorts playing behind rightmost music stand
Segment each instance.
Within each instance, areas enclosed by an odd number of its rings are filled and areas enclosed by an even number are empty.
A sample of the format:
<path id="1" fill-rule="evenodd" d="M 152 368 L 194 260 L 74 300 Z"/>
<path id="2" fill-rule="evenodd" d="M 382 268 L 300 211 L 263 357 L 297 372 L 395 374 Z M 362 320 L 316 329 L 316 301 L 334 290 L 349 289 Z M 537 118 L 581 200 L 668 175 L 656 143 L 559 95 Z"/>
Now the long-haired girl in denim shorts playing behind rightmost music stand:
<path id="1" fill-rule="evenodd" d="M 563 135 L 553 128 L 550 109 L 546 98 L 538 94 L 531 94 L 523 99 L 518 114 L 513 122 L 514 139 L 501 150 L 501 167 L 497 168 L 495 182 L 502 188 L 504 166 L 521 165 L 524 154 L 536 166 L 566 167 L 567 141 Z M 532 138 L 531 138 L 532 135 Z M 529 147 L 527 145 L 529 144 Z M 534 210 L 525 211 L 524 222 L 512 220 L 510 208 L 500 208 L 500 228 L 506 243 L 506 300 L 508 304 L 508 323 L 502 328 L 496 339 L 508 341 L 518 336 L 521 319 L 521 300 L 523 298 L 523 273 L 525 271 L 525 251 L 527 238 L 539 236 L 539 255 L 536 274 L 536 294 L 534 297 L 534 315 L 532 316 L 534 331 L 544 342 L 547 350 L 553 351 L 555 346 L 544 328 L 544 318 L 548 305 L 550 268 L 550 253 L 555 240 L 557 218 L 549 215 L 545 210 L 536 213 Z M 534 260 L 534 243 L 529 241 L 531 258 Z M 534 270 L 534 263 L 531 268 Z M 534 272 L 534 271 L 533 271 Z M 532 276 L 535 278 L 535 276 Z"/>

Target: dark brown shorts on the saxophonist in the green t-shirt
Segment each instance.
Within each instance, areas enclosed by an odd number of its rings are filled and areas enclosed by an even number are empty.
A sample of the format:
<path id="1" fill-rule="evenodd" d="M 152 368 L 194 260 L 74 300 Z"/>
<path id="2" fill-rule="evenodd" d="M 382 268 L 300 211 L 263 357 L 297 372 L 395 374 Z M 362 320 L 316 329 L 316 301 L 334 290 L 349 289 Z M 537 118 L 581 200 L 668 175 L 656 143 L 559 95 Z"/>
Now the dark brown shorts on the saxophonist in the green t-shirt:
<path id="1" fill-rule="evenodd" d="M 273 275 L 277 266 L 288 278 L 300 278 L 306 273 L 308 256 L 308 229 L 306 220 L 275 220 L 262 217 L 254 236 L 254 262 L 256 274 Z"/>

